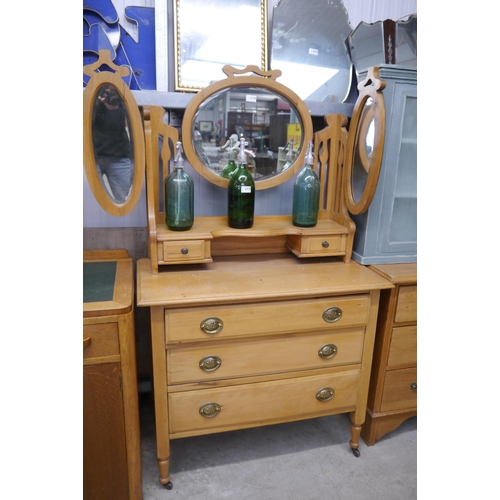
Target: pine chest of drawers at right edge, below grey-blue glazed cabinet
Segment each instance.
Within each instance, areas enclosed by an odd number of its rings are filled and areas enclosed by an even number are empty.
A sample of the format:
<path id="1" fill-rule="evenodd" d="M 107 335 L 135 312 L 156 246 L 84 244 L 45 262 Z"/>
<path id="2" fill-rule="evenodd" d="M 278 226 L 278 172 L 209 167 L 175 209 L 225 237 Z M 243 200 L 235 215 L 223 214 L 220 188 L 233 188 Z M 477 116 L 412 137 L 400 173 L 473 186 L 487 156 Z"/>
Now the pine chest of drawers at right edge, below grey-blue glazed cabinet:
<path id="1" fill-rule="evenodd" d="M 394 284 L 381 295 L 361 433 L 366 444 L 373 445 L 417 414 L 417 264 L 381 264 L 370 269 Z"/>

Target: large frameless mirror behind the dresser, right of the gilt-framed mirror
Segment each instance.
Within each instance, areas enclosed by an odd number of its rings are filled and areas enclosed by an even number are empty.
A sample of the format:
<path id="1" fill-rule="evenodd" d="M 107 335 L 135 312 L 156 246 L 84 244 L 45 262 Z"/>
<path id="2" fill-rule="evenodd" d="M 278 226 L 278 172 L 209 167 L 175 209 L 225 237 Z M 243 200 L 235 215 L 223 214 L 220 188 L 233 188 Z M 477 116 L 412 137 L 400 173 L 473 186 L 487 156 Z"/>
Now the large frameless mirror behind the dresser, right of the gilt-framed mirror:
<path id="1" fill-rule="evenodd" d="M 313 3 L 280 0 L 273 7 L 270 68 L 281 70 L 280 83 L 301 99 L 344 102 L 352 80 L 347 11 L 342 0 Z"/>

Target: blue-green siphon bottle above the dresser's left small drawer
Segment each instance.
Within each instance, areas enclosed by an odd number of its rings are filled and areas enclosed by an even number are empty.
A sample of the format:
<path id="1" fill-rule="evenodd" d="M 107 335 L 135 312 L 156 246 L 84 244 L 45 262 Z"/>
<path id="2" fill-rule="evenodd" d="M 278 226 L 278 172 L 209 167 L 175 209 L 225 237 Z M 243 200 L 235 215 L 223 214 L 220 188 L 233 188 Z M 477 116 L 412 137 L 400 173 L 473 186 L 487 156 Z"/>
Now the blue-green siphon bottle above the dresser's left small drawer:
<path id="1" fill-rule="evenodd" d="M 194 223 L 194 183 L 184 172 L 182 143 L 176 147 L 174 171 L 165 179 L 165 223 L 172 231 L 187 231 Z"/>

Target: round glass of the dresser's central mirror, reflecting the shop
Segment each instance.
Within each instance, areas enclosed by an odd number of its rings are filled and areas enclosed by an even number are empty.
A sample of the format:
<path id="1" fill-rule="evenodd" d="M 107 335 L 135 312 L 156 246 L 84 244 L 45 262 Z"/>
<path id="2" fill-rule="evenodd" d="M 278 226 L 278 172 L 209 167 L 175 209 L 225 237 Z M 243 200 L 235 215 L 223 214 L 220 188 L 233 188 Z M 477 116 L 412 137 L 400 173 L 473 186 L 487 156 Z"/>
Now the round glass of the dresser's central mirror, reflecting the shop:
<path id="1" fill-rule="evenodd" d="M 205 100 L 193 122 L 193 148 L 203 165 L 217 175 L 248 142 L 247 167 L 255 181 L 292 167 L 303 145 L 303 124 L 293 104 L 259 87 L 232 87 Z"/>

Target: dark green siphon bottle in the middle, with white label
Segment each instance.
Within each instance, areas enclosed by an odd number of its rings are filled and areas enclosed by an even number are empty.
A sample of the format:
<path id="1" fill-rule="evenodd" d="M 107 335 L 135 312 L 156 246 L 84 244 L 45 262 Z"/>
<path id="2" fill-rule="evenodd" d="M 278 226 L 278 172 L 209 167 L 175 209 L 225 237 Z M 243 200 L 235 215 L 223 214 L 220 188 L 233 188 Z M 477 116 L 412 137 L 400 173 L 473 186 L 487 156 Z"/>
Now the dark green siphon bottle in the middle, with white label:
<path id="1" fill-rule="evenodd" d="M 255 207 L 255 182 L 252 174 L 246 168 L 247 151 L 243 138 L 240 141 L 240 152 L 237 157 L 237 167 L 227 186 L 227 219 L 229 227 L 248 229 L 253 226 Z"/>

